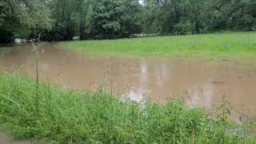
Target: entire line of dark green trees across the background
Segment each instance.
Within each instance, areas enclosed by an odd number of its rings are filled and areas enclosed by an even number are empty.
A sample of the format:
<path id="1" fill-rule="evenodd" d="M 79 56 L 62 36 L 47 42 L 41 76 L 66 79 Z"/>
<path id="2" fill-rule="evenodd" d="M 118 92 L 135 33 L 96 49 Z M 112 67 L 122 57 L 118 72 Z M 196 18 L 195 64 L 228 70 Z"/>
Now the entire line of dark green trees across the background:
<path id="1" fill-rule="evenodd" d="M 255 0 L 0 0 L 0 42 L 255 29 Z"/>

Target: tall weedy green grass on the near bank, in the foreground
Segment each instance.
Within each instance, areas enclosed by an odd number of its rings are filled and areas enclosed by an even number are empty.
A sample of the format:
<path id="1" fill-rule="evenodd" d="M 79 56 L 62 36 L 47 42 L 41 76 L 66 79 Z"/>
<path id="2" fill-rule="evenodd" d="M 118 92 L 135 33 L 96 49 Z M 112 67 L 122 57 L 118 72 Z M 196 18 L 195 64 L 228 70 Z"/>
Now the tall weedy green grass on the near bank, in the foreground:
<path id="1" fill-rule="evenodd" d="M 229 111 L 223 107 L 218 110 Z M 166 106 L 142 105 L 102 90 L 62 90 L 43 82 L 36 89 L 32 78 L 0 72 L 0 124 L 14 138 L 53 143 L 256 142 L 224 115 L 211 119 L 178 98 Z"/>

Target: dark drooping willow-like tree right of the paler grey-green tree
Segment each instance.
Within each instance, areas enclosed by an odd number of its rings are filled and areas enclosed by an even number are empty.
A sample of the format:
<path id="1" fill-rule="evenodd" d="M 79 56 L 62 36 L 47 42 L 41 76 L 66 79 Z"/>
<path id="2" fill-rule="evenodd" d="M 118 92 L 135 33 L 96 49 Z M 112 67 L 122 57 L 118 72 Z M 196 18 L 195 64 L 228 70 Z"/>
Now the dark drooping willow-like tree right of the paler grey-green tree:
<path id="1" fill-rule="evenodd" d="M 43 30 L 44 40 L 71 40 L 75 35 L 86 38 L 90 0 L 52 0 L 47 2 L 54 19 L 51 30 Z"/>

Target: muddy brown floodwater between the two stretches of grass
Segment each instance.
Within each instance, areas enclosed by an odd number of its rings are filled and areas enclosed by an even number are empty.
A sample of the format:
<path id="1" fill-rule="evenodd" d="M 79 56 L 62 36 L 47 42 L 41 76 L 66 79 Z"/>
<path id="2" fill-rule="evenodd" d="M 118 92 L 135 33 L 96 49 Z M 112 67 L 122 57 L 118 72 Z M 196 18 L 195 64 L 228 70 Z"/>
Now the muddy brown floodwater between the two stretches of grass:
<path id="1" fill-rule="evenodd" d="M 9 46 L 0 66 L 34 75 L 29 45 Z M 135 101 L 165 103 L 174 95 L 188 97 L 190 106 L 210 108 L 226 95 L 233 106 L 256 108 L 256 62 L 242 59 L 121 58 L 82 56 L 56 43 L 41 46 L 40 77 L 65 89 L 96 90 L 100 84 L 115 95 Z"/>

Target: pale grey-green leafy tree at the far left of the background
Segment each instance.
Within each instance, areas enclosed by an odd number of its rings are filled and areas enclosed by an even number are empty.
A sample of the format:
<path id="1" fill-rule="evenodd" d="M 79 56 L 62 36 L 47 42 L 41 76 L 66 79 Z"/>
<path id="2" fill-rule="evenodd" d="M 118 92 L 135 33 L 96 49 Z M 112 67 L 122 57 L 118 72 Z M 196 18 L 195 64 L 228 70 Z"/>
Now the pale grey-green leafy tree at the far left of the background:
<path id="1" fill-rule="evenodd" d="M 0 1 L 0 42 L 27 38 L 31 31 L 50 29 L 50 10 L 38 0 Z"/>

